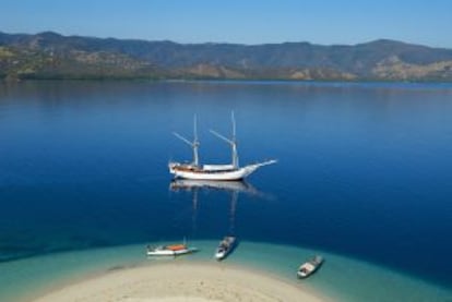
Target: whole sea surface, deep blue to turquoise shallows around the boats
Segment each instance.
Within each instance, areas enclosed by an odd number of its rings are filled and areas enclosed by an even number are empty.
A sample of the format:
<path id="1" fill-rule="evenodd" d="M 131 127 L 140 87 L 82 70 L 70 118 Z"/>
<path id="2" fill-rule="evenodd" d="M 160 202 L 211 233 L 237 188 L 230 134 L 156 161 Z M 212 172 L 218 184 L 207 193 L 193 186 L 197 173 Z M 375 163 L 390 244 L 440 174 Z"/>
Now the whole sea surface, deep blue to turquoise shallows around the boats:
<path id="1" fill-rule="evenodd" d="M 171 133 L 195 116 L 201 161 L 228 164 L 231 111 L 240 164 L 278 162 L 174 182 Z M 338 301 L 451 302 L 451 84 L 0 83 L 0 301 L 233 233 L 227 261 L 285 278 L 324 255 L 302 285 Z"/>

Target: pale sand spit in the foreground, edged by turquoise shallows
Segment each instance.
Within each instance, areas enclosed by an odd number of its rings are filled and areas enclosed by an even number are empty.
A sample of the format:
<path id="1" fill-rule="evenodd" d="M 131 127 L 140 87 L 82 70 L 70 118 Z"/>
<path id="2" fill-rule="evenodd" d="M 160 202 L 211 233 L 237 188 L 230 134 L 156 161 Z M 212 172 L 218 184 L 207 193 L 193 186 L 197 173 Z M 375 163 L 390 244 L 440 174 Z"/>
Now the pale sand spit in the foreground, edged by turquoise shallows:
<path id="1" fill-rule="evenodd" d="M 34 302 L 325 301 L 302 287 L 224 264 L 170 263 L 108 271 Z"/>

